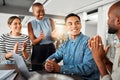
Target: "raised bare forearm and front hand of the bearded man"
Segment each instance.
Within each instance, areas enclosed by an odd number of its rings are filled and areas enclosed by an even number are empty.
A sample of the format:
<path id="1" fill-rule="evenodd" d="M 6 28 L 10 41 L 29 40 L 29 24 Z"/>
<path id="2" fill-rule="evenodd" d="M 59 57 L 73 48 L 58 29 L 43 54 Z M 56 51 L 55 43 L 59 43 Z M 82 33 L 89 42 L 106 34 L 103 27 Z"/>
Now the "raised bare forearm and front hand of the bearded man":
<path id="1" fill-rule="evenodd" d="M 107 66 L 103 62 L 106 56 L 102 39 L 100 36 L 93 37 L 89 40 L 89 48 L 92 51 L 92 56 L 100 71 L 101 77 L 108 75 Z M 105 59 L 106 60 L 106 59 Z"/>

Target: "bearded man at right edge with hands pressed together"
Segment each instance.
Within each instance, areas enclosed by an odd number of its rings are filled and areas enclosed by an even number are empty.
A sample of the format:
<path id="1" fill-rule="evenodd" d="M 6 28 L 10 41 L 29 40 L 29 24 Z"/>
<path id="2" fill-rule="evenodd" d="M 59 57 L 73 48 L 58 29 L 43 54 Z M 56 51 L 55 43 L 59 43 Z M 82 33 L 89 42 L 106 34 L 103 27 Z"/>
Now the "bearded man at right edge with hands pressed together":
<path id="1" fill-rule="evenodd" d="M 108 33 L 116 34 L 120 41 L 120 1 L 114 3 L 108 11 Z M 99 68 L 101 80 L 120 80 L 120 42 L 116 45 L 113 64 L 106 56 L 109 45 L 104 49 L 99 35 L 89 40 L 89 47 Z"/>

